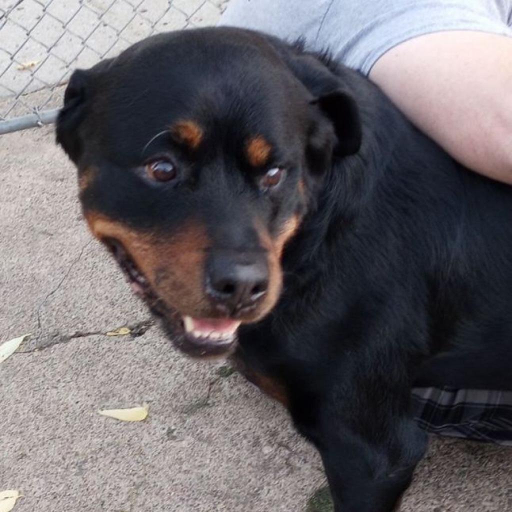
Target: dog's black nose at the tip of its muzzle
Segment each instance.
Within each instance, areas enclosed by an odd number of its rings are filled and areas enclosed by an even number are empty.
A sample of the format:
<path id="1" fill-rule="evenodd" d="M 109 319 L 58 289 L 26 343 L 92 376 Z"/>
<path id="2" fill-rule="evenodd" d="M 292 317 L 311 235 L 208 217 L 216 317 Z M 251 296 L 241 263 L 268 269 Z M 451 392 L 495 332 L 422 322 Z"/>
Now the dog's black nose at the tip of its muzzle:
<path id="1" fill-rule="evenodd" d="M 210 255 L 206 292 L 230 314 L 255 307 L 267 293 L 268 266 L 263 252 L 219 251 Z"/>

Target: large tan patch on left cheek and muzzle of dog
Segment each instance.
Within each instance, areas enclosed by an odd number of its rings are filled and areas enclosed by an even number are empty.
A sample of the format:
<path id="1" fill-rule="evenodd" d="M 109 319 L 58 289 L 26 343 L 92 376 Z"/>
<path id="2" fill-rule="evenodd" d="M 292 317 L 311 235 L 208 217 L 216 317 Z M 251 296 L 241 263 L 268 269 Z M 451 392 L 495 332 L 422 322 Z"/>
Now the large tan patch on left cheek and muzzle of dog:
<path id="1" fill-rule="evenodd" d="M 123 244 L 166 304 L 191 316 L 209 311 L 203 286 L 209 242 L 202 225 L 190 221 L 161 240 L 151 232 L 136 231 L 95 212 L 86 212 L 85 217 L 96 238 L 114 238 Z"/>

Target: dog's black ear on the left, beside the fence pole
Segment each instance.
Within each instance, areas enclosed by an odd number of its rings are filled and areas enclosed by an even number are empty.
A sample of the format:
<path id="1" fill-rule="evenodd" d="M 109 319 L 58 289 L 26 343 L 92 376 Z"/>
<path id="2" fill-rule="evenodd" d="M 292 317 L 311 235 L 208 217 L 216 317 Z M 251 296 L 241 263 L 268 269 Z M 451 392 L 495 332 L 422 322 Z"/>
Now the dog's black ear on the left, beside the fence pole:
<path id="1" fill-rule="evenodd" d="M 90 71 L 76 70 L 64 93 L 64 105 L 57 116 L 56 141 L 73 162 L 82 152 L 78 128 L 86 114 L 89 99 Z"/>

